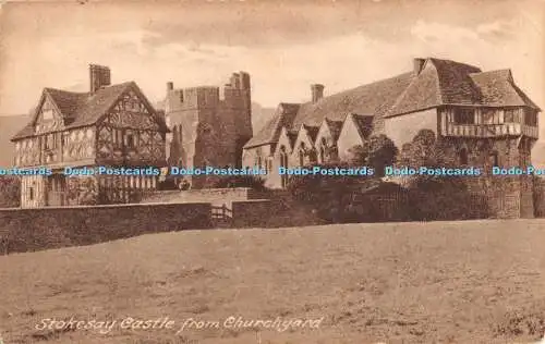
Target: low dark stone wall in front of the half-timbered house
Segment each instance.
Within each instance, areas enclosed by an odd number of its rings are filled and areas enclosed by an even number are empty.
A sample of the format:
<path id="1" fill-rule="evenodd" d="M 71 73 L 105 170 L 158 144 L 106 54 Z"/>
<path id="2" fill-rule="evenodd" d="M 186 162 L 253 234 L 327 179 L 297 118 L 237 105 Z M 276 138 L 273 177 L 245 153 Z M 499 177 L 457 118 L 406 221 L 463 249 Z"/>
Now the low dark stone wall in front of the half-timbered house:
<path id="1" fill-rule="evenodd" d="M 210 205 L 205 202 L 0 209 L 0 254 L 208 229 L 210 212 Z"/>

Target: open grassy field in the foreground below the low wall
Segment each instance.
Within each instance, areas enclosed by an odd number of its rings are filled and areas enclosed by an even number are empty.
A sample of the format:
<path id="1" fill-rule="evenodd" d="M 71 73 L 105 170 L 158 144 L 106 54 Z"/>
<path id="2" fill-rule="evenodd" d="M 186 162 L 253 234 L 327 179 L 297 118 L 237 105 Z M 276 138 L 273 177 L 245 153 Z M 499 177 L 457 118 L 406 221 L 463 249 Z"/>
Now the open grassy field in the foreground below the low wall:
<path id="1" fill-rule="evenodd" d="M 322 322 L 256 330 L 225 325 L 231 316 Z M 173 323 L 128 328 L 164 317 Z M 94 328 L 41 330 L 53 318 Z M 92 320 L 116 322 L 102 334 Z M 4 344 L 529 343 L 544 332 L 541 220 L 187 231 L 0 257 Z"/>

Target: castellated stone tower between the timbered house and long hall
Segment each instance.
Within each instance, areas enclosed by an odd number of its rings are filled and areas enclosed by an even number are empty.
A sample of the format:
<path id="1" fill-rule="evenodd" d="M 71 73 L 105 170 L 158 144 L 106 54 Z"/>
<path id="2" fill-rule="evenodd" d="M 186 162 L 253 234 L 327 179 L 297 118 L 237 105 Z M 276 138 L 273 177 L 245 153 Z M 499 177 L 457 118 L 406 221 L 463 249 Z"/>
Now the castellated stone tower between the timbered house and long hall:
<path id="1" fill-rule="evenodd" d="M 218 86 L 174 89 L 169 82 L 165 112 L 172 130 L 167 140 L 170 164 L 241 167 L 242 147 L 253 135 L 250 74 L 233 73 L 222 89 Z M 192 188 L 211 187 L 217 180 L 187 177 Z"/>

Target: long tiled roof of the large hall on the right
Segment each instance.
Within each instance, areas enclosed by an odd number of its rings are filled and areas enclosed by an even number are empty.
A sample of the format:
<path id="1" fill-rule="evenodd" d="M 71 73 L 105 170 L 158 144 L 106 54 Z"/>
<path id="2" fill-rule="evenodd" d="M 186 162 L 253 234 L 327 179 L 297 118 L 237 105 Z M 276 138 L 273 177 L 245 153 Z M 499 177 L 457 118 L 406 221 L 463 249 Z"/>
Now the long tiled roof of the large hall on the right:
<path id="1" fill-rule="evenodd" d="M 419 72 L 359 86 L 316 102 L 290 105 L 289 115 L 277 113 L 245 148 L 277 142 L 279 125 L 286 125 L 288 130 L 299 128 L 302 124 L 317 126 L 325 119 L 343 121 L 347 113 L 388 118 L 445 105 L 526 106 L 540 110 L 514 85 L 509 70 L 482 72 L 474 65 L 428 58 Z"/>

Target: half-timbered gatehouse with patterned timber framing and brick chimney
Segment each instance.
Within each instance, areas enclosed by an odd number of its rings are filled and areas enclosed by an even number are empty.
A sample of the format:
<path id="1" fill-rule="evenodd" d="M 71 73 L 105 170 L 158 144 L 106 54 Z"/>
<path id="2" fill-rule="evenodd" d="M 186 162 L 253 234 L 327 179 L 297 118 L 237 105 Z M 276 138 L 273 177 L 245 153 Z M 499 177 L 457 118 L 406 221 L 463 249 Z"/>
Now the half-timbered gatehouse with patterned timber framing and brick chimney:
<path id="1" fill-rule="evenodd" d="M 45 88 L 29 121 L 13 138 L 15 165 L 49 169 L 23 175 L 24 208 L 128 202 L 155 189 L 155 175 L 68 176 L 64 169 L 164 167 L 165 119 L 134 82 L 110 85 L 110 70 L 89 65 L 88 93 Z"/>

